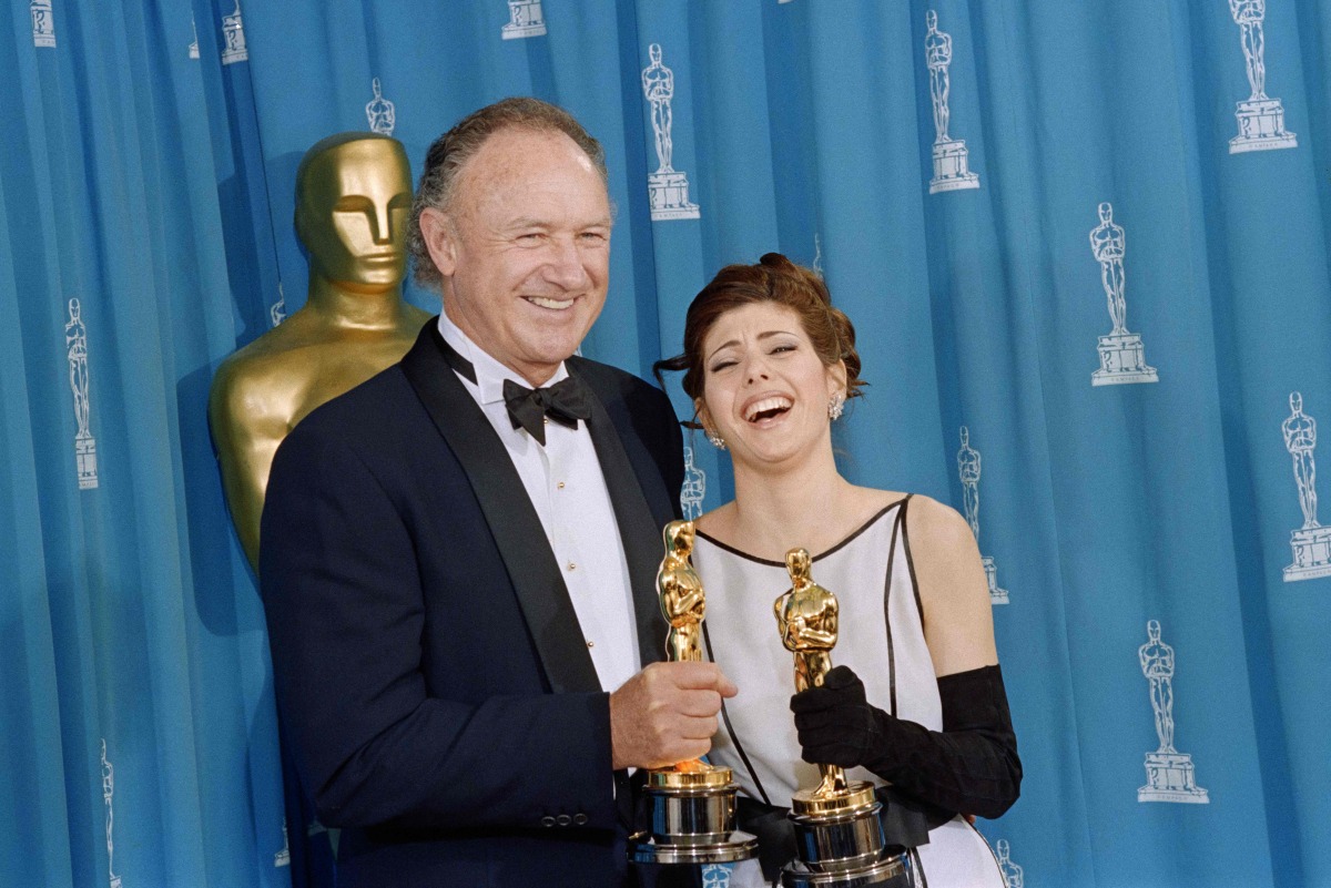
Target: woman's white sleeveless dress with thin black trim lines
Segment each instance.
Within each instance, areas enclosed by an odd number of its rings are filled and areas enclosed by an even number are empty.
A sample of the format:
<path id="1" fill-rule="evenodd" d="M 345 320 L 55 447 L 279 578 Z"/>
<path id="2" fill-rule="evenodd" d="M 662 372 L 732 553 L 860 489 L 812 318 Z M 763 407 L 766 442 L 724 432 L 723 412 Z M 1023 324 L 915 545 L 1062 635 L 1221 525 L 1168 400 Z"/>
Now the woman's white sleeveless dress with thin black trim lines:
<path id="1" fill-rule="evenodd" d="M 942 705 L 933 661 L 924 639 L 905 504 L 886 506 L 835 548 L 815 556 L 812 577 L 839 602 L 839 638 L 833 666 L 849 666 L 864 681 L 869 703 L 925 727 L 942 730 Z M 740 693 L 727 701 L 733 734 L 723 723 L 708 760 L 735 772 L 740 791 L 788 807 L 799 788 L 819 782 L 817 766 L 800 758 L 791 714 L 795 659 L 777 634 L 773 602 L 791 588 L 785 565 L 755 558 L 699 532 L 693 568 L 707 590 L 707 633 L 715 662 Z M 740 758 L 739 746 L 752 771 Z M 865 768 L 847 778 L 885 780 Z M 960 815 L 929 832 L 929 843 L 912 852 L 917 888 L 1004 888 L 1005 880 L 989 844 Z M 757 888 L 756 860 L 735 865 L 732 888 Z"/>

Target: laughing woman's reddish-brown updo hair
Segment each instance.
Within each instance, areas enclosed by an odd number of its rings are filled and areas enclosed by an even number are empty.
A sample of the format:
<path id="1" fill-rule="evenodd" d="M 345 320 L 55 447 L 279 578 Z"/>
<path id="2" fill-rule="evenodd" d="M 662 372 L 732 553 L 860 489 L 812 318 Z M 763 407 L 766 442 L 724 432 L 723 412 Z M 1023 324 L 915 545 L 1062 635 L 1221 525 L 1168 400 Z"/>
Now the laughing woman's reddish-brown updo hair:
<path id="1" fill-rule="evenodd" d="M 860 354 L 855 350 L 855 326 L 832 304 L 832 294 L 817 273 L 795 265 L 780 253 L 768 253 L 757 265 L 728 265 L 703 287 L 684 318 L 684 354 L 652 366 L 660 380 L 663 370 L 684 371 L 684 392 L 703 396 L 705 368 L 703 343 L 721 315 L 735 308 L 772 302 L 795 310 L 813 351 L 825 367 L 845 362 L 847 397 L 858 396 Z M 692 423 L 685 423 L 692 425 Z"/>

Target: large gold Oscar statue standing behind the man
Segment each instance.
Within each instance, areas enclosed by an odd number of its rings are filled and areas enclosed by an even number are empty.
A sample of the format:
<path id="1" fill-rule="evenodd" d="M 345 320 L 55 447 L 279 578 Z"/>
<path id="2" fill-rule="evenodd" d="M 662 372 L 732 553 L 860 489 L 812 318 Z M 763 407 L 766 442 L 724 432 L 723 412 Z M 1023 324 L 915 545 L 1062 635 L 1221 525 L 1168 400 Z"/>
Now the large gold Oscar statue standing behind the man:
<path id="1" fill-rule="evenodd" d="M 226 502 L 256 570 L 278 444 L 315 407 L 401 360 L 429 320 L 402 299 L 410 210 L 411 169 L 394 138 L 339 133 L 301 161 L 295 233 L 309 251 L 309 298 L 222 363 L 208 404 Z"/>

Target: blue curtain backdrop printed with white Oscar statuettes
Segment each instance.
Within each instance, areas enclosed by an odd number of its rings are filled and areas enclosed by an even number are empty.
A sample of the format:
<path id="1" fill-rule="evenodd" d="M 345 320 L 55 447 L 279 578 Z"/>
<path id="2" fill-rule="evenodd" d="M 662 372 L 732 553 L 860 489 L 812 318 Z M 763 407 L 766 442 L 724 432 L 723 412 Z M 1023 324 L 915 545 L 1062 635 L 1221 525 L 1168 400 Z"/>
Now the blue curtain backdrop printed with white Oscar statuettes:
<path id="1" fill-rule="evenodd" d="M 0 883 L 285 885 L 318 852 L 205 403 L 303 302 L 297 162 L 378 81 L 417 170 L 508 94 L 604 142 L 590 356 L 646 374 L 725 263 L 825 274 L 872 383 L 845 472 L 969 506 L 993 566 L 1012 885 L 1331 885 L 1331 0 L 9 7 Z M 685 505 L 725 501 L 691 453 Z"/>

